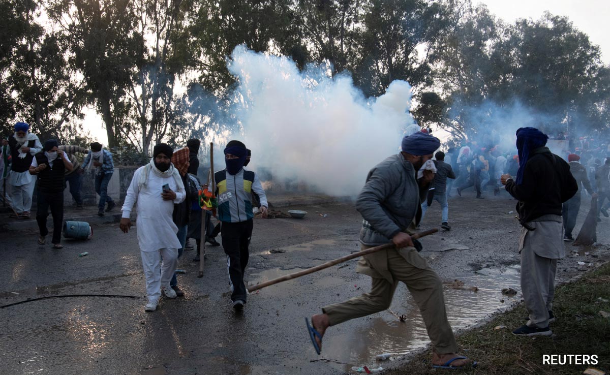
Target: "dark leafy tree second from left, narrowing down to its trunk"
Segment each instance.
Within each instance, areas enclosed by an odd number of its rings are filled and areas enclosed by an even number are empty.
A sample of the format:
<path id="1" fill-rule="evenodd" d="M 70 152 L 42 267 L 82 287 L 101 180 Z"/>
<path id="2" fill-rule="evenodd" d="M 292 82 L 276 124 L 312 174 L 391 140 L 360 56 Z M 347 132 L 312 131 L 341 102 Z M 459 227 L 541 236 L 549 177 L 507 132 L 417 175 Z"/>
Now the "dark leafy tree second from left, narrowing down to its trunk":
<path id="1" fill-rule="evenodd" d="M 110 147 L 120 145 L 136 124 L 126 95 L 142 55 L 131 0 L 49 0 L 49 17 L 70 41 L 70 68 L 84 77 L 88 103 L 104 121 Z"/>

